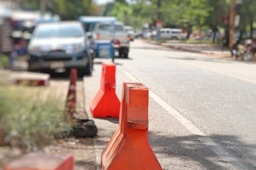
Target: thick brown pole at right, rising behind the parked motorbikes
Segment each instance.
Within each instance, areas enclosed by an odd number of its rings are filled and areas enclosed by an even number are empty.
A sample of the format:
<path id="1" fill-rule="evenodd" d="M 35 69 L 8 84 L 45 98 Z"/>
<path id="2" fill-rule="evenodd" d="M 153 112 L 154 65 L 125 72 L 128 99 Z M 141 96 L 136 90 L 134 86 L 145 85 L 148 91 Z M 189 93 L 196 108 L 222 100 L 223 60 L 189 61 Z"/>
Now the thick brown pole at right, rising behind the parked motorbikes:
<path id="1" fill-rule="evenodd" d="M 236 11 L 235 11 L 235 3 L 236 0 L 231 0 L 231 6 L 230 6 L 230 51 L 233 48 L 234 42 L 235 42 L 235 16 L 236 16 Z"/>

